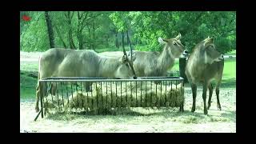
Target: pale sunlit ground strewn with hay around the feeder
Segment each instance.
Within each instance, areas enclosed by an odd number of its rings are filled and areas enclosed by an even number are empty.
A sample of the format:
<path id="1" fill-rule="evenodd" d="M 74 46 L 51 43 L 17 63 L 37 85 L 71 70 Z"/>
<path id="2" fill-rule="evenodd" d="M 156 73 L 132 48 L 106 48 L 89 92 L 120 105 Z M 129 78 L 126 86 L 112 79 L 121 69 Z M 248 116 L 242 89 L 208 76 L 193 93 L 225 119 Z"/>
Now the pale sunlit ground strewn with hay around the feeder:
<path id="1" fill-rule="evenodd" d="M 23 56 L 24 55 L 24 56 Z M 27 55 L 27 57 L 26 57 Z M 166 132 L 236 132 L 236 89 L 235 78 L 222 85 L 220 102 L 222 110 L 217 110 L 216 95 L 213 94 L 208 115 L 203 114 L 202 86 L 198 86 L 196 111 L 191 113 L 192 94 L 190 86 L 185 86 L 185 112 L 178 108 L 151 109 L 137 108 L 133 112 L 121 110 L 115 115 L 85 114 L 50 114 L 46 118 L 38 118 L 34 110 L 34 87 L 36 78 L 25 77 L 26 71 L 36 71 L 38 57 L 30 58 L 30 54 L 21 53 L 21 89 L 20 131 L 23 132 L 122 132 L 122 133 L 166 133 Z M 36 54 L 31 54 L 36 55 Z M 39 55 L 39 54 L 38 54 Z M 27 59 L 25 59 L 27 58 Z M 227 66 L 227 65 L 226 65 Z M 234 67 L 235 68 L 235 67 Z M 235 69 L 234 69 L 235 70 Z M 230 79 L 232 81 L 230 81 Z M 24 81 L 24 82 L 23 82 Z M 31 83 L 30 83 L 31 82 Z M 232 82 L 232 85 L 230 85 Z M 26 91 L 27 90 L 27 91 Z M 26 95 L 26 96 L 24 96 Z M 30 96 L 31 95 L 31 96 Z"/>

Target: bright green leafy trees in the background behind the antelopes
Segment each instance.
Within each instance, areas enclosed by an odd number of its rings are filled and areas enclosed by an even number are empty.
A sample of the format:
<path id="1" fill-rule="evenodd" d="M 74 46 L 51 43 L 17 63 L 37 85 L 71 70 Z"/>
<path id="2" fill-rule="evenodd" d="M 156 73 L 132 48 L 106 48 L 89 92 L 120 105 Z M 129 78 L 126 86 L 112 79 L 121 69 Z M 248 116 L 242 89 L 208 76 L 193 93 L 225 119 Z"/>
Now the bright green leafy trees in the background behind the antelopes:
<path id="1" fill-rule="evenodd" d="M 43 13 L 20 13 L 21 50 L 45 51 L 50 48 Z M 23 14 L 30 16 L 30 22 L 22 21 Z M 75 49 L 98 50 L 121 46 L 121 35 L 125 33 L 126 37 L 128 31 L 135 50 L 160 51 L 162 46 L 158 37 L 174 38 L 178 33 L 182 34 L 181 41 L 189 51 L 208 36 L 214 38 L 217 49 L 222 53 L 236 49 L 236 12 L 57 11 L 49 14 L 56 47 L 70 48 L 71 41 Z M 70 19 L 67 14 L 70 14 Z"/>

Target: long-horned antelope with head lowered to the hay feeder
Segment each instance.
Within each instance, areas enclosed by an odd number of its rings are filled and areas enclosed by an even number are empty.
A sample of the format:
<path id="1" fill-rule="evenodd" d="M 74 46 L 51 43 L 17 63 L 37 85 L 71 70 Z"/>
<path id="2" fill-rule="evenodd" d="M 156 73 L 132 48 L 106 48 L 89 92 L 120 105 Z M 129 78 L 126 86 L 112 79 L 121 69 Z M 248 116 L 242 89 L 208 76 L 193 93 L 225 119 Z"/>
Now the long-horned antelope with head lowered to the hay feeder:
<path id="1" fill-rule="evenodd" d="M 38 80 L 47 77 L 101 77 L 101 78 L 136 78 L 132 62 L 123 50 L 122 58 L 108 58 L 98 55 L 93 50 L 69 50 L 54 48 L 47 50 L 39 58 Z M 89 84 L 85 82 L 86 91 Z M 42 86 L 42 92 L 47 90 Z M 56 86 L 50 86 L 55 94 Z M 38 112 L 40 94 L 39 82 L 36 92 L 35 110 Z M 51 90 L 50 90 L 51 91 Z"/>

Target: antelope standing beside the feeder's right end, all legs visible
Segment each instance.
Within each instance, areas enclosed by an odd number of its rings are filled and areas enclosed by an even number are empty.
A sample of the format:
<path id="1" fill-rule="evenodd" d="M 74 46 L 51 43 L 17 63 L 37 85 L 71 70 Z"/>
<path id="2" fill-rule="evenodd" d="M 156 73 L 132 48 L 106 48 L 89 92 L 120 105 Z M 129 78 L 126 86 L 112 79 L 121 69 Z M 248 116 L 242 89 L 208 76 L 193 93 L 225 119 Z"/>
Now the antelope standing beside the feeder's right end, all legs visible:
<path id="1" fill-rule="evenodd" d="M 193 93 L 193 106 L 191 110 L 192 112 L 194 112 L 195 110 L 197 85 L 199 82 L 202 82 L 202 99 L 204 105 L 204 114 L 208 113 L 206 109 L 206 92 L 207 88 L 209 88 L 209 109 L 211 97 L 213 94 L 213 86 L 211 84 L 211 81 L 213 79 L 216 80 L 217 107 L 218 110 L 221 110 L 221 104 L 219 102 L 219 86 L 222 81 L 223 67 L 223 55 L 215 49 L 213 38 L 208 37 L 194 47 L 194 51 L 190 54 L 190 57 L 187 60 L 185 71 L 186 77 L 190 82 L 190 86 Z"/>

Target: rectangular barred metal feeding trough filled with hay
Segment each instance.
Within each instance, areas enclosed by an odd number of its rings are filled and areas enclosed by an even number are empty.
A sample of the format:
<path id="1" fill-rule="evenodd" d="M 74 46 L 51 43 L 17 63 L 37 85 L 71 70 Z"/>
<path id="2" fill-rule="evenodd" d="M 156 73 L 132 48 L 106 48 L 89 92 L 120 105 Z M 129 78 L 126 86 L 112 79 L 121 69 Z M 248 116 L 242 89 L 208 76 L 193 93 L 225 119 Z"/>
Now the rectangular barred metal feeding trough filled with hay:
<path id="1" fill-rule="evenodd" d="M 95 112 L 120 107 L 179 107 L 183 111 L 181 77 L 43 78 L 39 80 L 39 114 L 54 111 Z"/>

